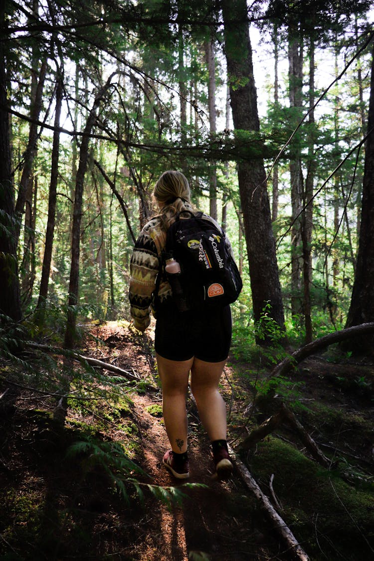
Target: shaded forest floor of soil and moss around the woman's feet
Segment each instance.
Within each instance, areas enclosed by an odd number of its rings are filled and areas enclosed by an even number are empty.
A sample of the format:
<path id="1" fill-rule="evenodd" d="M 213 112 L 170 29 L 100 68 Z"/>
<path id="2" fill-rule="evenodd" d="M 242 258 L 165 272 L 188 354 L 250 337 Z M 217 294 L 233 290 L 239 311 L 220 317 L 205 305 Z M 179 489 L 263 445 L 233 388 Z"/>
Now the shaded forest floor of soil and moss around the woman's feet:
<path id="1" fill-rule="evenodd" d="M 161 465 L 168 440 L 152 331 L 139 334 L 116 322 L 91 325 L 81 352 L 135 372 L 148 385 L 124 383 L 128 393 L 113 404 L 70 401 L 61 430 L 53 417 L 56 399 L 33 392 L 29 384 L 15 385 L 9 366 L 0 364 L 0 395 L 13 396 L 11 402 L 0 399 L 0 559 L 289 558 L 239 473 L 226 482 L 212 477 L 209 442 L 191 399 L 188 482 L 203 486 L 186 488 Z M 234 355 L 221 383 L 232 447 L 238 450 L 248 432 L 273 414 L 274 392 L 279 393 L 331 467 L 308 457 L 297 435 L 282 424 L 244 458 L 252 475 L 266 495 L 276 496 L 276 508 L 310 559 L 374 558 L 373 362 L 330 351 L 303 361 L 275 387 L 263 357 L 248 361 Z M 113 484 L 120 462 L 95 462 L 98 448 L 67 455 L 72 443 L 93 438 L 122 443 L 147 474 L 127 473 L 128 502 L 118 492 L 120 478 Z M 131 479 L 140 482 L 142 501 Z M 146 484 L 175 485 L 185 497 L 170 505 Z"/>

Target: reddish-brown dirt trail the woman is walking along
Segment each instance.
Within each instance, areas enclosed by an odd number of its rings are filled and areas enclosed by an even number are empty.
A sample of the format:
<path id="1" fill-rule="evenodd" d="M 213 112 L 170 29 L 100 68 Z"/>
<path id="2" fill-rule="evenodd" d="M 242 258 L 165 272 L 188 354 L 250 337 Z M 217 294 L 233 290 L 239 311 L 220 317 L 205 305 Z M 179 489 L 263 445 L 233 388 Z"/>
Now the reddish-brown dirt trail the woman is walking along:
<path id="1" fill-rule="evenodd" d="M 94 334 L 105 342 L 107 356 L 112 346 L 117 366 L 133 368 L 147 380 L 153 378 L 152 341 L 147 341 L 146 335 L 134 335 L 116 323 L 95 329 Z M 161 404 L 160 392 L 134 394 L 132 401 L 141 434 L 142 467 L 153 484 L 180 487 L 183 482 L 176 481 L 161 464 L 169 447 L 163 421 L 146 410 L 153 404 Z M 189 407 L 189 429 L 191 475 L 188 482 L 206 487 L 185 490 L 187 498 L 181 507 L 173 507 L 171 511 L 152 499 L 146 511 L 149 533 L 143 542 L 134 544 L 131 559 L 244 561 L 271 557 L 268 547 L 262 544 L 263 529 L 257 527 L 257 523 L 263 526 L 262 516 L 260 514 L 258 521 L 249 518 L 253 499 L 241 481 L 236 475 L 227 482 L 213 479 L 209 442 L 193 406 Z"/>

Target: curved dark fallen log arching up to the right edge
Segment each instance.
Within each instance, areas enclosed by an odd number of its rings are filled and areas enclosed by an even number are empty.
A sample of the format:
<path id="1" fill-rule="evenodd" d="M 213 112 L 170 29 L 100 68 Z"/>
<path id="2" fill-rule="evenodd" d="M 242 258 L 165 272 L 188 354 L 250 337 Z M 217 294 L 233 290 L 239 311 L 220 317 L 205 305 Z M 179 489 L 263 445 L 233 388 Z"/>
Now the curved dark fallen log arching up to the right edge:
<path id="1" fill-rule="evenodd" d="M 334 333 L 329 333 L 312 343 L 308 343 L 303 347 L 299 348 L 297 351 L 293 352 L 292 355 L 284 358 L 283 361 L 279 362 L 270 373 L 270 377 L 273 376 L 283 376 L 287 374 L 289 370 L 292 370 L 299 362 L 304 360 L 313 353 L 320 351 L 322 348 L 329 347 L 334 343 L 340 343 L 349 339 L 350 337 L 357 337 L 357 335 L 363 335 L 366 333 L 374 332 L 374 322 L 363 323 L 361 325 L 354 325 L 353 327 L 348 327 L 347 329 L 341 329 L 340 331 L 335 331 Z"/>

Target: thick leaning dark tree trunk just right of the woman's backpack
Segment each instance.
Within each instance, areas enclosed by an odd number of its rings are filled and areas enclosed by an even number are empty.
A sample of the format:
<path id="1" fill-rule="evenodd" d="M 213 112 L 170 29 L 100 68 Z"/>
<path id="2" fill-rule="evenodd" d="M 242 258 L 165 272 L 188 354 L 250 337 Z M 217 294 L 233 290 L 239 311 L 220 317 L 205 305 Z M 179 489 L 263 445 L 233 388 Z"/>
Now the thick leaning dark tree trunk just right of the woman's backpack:
<path id="1" fill-rule="evenodd" d="M 234 128 L 257 132 L 260 123 L 247 24 L 247 4 L 245 0 L 224 0 L 222 7 Z M 235 23 L 231 23 L 233 21 Z M 237 23 L 238 21 L 240 23 Z M 255 321 L 260 321 L 264 308 L 267 307 L 269 316 L 283 328 L 283 303 L 263 161 L 239 160 L 238 181 Z"/>

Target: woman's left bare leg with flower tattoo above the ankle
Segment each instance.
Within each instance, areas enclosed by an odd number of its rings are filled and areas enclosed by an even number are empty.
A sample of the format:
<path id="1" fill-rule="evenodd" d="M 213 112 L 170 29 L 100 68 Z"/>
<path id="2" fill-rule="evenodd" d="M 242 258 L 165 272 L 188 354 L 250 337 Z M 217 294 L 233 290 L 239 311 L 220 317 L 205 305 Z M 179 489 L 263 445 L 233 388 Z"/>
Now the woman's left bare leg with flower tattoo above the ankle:
<path id="1" fill-rule="evenodd" d="M 187 450 L 186 395 L 193 358 L 174 361 L 157 353 L 156 358 L 163 392 L 165 428 L 173 452 L 181 454 Z"/>

